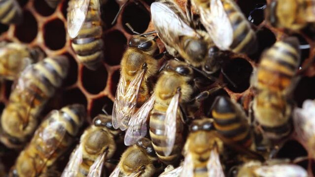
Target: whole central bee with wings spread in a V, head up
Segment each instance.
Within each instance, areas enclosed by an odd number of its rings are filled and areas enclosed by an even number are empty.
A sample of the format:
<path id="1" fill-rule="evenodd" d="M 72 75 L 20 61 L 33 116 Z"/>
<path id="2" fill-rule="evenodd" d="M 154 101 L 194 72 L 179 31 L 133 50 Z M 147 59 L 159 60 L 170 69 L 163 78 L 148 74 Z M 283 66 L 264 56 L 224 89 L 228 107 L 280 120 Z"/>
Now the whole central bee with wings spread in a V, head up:
<path id="1" fill-rule="evenodd" d="M 157 156 L 165 164 L 175 162 L 183 143 L 184 115 L 179 104 L 191 100 L 193 87 L 189 83 L 192 80 L 193 70 L 187 63 L 170 60 L 152 96 L 132 116 L 125 135 L 125 145 L 132 145 L 146 135 L 146 119 L 150 114 L 150 137 Z"/>

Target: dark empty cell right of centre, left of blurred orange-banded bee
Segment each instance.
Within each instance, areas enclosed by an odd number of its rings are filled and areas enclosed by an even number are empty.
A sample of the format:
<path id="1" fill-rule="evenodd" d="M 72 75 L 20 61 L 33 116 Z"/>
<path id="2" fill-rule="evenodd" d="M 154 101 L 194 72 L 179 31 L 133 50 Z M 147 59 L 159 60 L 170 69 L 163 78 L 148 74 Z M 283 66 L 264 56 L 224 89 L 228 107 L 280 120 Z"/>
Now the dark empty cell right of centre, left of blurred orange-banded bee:
<path id="1" fill-rule="evenodd" d="M 234 87 L 226 77 L 224 77 L 224 83 L 227 83 L 227 87 L 233 92 L 241 93 L 248 89 L 250 85 L 249 80 L 252 70 L 253 68 L 247 60 L 242 58 L 231 59 L 231 61 L 224 66 L 223 71 L 236 87 Z"/>

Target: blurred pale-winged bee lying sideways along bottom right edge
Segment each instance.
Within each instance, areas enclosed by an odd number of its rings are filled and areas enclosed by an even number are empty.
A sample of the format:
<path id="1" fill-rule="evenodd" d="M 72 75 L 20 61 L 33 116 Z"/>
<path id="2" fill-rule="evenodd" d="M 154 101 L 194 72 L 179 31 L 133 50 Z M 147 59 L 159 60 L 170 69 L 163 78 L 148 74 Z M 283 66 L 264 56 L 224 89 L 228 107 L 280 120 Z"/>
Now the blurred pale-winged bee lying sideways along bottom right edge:
<path id="1" fill-rule="evenodd" d="M 238 170 L 237 177 L 308 177 L 308 174 L 305 169 L 294 164 L 249 161 Z"/>

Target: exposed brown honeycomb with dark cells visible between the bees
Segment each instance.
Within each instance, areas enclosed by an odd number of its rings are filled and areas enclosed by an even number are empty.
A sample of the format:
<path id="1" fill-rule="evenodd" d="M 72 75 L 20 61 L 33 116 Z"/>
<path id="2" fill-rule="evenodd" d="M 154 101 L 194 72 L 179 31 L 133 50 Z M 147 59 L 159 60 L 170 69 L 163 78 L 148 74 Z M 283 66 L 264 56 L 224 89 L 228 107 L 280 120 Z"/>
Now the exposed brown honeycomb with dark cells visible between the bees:
<path id="1" fill-rule="evenodd" d="M 67 8 L 69 0 L 62 0 L 58 7 L 51 9 L 44 0 L 19 0 L 23 7 L 24 20 L 20 25 L 4 26 L 0 24 L 0 41 L 12 41 L 24 43 L 30 47 L 39 47 L 48 57 L 66 55 L 70 59 L 70 72 L 64 82 L 62 89 L 52 98 L 42 115 L 45 115 L 52 109 L 59 109 L 71 103 L 82 103 L 88 110 L 87 122 L 91 123 L 94 116 L 101 113 L 104 104 L 105 110 L 111 114 L 116 86 L 119 80 L 120 60 L 127 42 L 133 34 L 125 23 L 138 32 L 152 31 L 153 26 L 150 22 L 150 4 L 153 0 L 129 0 L 122 9 L 117 18 L 117 23 L 111 25 L 118 9 L 123 5 L 123 1 L 108 0 L 102 6 L 102 18 L 104 21 L 104 53 L 105 59 L 103 65 L 96 71 L 91 71 L 79 64 L 70 47 L 70 37 L 66 32 L 67 28 Z M 185 0 L 177 0 L 184 9 Z M 315 40 L 312 38 L 312 28 L 307 28 L 301 33 L 287 33 L 275 29 L 264 21 L 262 7 L 271 0 L 236 0 L 246 17 L 251 17 L 253 28 L 256 29 L 259 48 L 256 53 L 247 56 L 243 54 L 233 54 L 230 62 L 224 65 L 223 69 L 230 79 L 238 86 L 234 88 L 220 74 L 219 79 L 227 83 L 227 86 L 216 92 L 205 101 L 204 105 L 210 105 L 215 96 L 229 95 L 233 100 L 241 103 L 245 110 L 248 110 L 249 102 L 253 94 L 249 89 L 249 78 L 257 67 L 260 55 L 264 49 L 272 46 L 277 40 L 287 36 L 297 36 L 303 45 L 309 44 L 309 49 L 302 50 L 301 67 L 305 67 L 312 62 L 315 57 Z M 255 10 L 254 10 L 255 9 Z M 163 45 L 160 49 L 163 51 Z M 294 100 L 297 106 L 301 107 L 306 99 L 315 99 L 315 64 L 301 73 L 301 79 L 294 91 Z M 210 87 L 214 86 L 212 84 Z M 4 81 L 0 86 L 0 110 L 2 110 L 8 101 L 12 82 Z M 210 115 L 207 108 L 201 109 L 204 114 Z M 88 126 L 86 123 L 86 126 Z M 2 149 L 0 149 L 2 150 Z M 18 151 L 4 149 L 2 159 L 6 159 L 4 166 L 6 171 L 13 165 Z M 118 150 L 117 158 L 122 150 Z M 63 161 L 67 162 L 68 156 L 65 155 Z M 294 159 L 300 156 L 309 156 L 305 145 L 300 143 L 299 139 L 293 134 L 290 136 L 284 146 L 277 153 L 277 157 L 286 157 Z M 9 159 L 9 160 L 8 160 Z M 4 160 L 2 160 L 3 162 Z M 310 176 L 315 176 L 315 160 L 308 158 L 299 162 L 299 165 L 308 170 Z M 61 167 L 62 169 L 63 167 Z"/>

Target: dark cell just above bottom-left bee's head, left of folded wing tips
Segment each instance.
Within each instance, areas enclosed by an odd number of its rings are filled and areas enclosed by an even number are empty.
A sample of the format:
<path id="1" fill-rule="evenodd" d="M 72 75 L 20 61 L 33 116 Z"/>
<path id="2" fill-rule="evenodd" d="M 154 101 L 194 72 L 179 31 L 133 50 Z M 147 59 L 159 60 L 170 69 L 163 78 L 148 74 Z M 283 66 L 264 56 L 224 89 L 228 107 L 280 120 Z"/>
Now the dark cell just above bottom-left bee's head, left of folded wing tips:
<path id="1" fill-rule="evenodd" d="M 93 100 L 92 109 L 91 109 L 91 118 L 94 118 L 95 116 L 99 114 L 104 114 L 104 112 L 102 111 L 104 105 L 106 105 L 105 111 L 109 115 L 111 115 L 113 102 L 108 97 L 104 96 L 104 97 Z"/>

